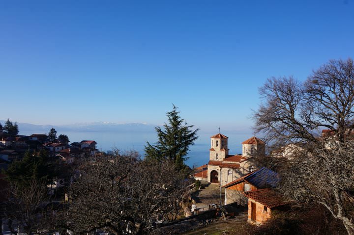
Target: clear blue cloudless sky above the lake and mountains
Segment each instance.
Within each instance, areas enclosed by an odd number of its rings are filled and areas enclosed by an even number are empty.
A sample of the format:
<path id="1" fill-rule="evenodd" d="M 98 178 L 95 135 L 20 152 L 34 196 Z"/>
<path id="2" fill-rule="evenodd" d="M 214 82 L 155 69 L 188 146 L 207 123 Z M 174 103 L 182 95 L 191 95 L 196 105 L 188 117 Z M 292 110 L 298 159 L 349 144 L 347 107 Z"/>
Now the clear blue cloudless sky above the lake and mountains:
<path id="1" fill-rule="evenodd" d="M 353 0 L 1 0 L 0 119 L 252 126 L 266 78 L 354 57 Z"/>

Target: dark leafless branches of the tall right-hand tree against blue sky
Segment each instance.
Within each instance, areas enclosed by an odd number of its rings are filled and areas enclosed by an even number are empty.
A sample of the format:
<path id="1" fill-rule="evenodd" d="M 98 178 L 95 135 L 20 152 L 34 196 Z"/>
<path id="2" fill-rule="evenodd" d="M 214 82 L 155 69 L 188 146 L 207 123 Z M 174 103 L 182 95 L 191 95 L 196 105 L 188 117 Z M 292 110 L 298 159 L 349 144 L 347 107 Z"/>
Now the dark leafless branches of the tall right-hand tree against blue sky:
<path id="1" fill-rule="evenodd" d="M 343 140 L 353 130 L 354 64 L 331 60 L 305 82 L 269 78 L 260 88 L 264 103 L 254 113 L 255 129 L 266 141 L 316 141 L 319 129 Z"/>

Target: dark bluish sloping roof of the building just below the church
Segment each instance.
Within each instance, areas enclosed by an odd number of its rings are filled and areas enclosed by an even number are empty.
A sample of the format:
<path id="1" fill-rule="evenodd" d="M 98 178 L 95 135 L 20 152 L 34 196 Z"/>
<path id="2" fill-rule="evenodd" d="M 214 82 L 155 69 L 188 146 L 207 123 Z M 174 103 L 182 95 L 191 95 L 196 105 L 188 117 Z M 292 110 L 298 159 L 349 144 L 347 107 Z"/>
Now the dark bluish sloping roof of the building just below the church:
<path id="1" fill-rule="evenodd" d="M 268 187 L 275 187 L 279 182 L 279 175 L 266 168 L 262 167 L 261 169 L 251 172 L 245 176 L 238 178 L 237 180 L 224 185 L 224 187 L 228 187 L 237 183 L 241 183 L 245 181 L 247 183 L 251 183 L 252 185 L 256 186 L 257 188 L 268 188 Z"/>

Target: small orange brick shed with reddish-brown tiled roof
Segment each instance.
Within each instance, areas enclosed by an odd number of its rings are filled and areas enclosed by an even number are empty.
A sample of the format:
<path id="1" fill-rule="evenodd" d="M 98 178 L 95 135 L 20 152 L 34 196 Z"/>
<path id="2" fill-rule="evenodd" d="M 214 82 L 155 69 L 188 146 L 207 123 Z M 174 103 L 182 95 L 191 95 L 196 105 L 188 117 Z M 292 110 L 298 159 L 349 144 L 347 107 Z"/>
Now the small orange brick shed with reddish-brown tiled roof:
<path id="1" fill-rule="evenodd" d="M 265 188 L 243 193 L 248 198 L 248 222 L 262 224 L 271 212 L 282 209 L 287 202 L 274 189 Z"/>

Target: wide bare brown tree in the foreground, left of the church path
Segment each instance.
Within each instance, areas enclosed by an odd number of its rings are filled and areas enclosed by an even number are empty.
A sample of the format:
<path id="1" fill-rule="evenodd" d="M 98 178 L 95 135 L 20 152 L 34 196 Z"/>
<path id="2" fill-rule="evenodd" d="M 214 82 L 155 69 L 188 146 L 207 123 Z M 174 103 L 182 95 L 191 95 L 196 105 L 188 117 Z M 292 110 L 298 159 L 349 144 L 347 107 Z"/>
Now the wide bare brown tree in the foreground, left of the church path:
<path id="1" fill-rule="evenodd" d="M 175 219 L 185 192 L 183 179 L 168 161 L 143 161 L 132 152 L 91 158 L 70 186 L 69 228 L 77 234 L 97 229 L 142 234 L 158 216 Z"/>

